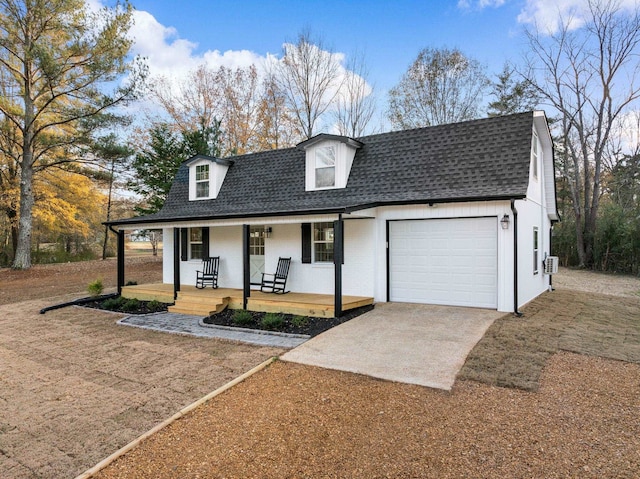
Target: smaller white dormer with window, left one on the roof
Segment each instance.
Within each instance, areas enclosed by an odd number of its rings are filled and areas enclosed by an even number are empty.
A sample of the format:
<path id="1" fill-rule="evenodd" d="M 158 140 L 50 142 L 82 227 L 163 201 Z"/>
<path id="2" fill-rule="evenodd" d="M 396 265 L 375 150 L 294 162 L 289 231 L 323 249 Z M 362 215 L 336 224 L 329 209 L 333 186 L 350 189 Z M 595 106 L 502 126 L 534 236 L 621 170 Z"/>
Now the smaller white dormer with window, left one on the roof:
<path id="1" fill-rule="evenodd" d="M 196 155 L 186 162 L 189 167 L 189 201 L 212 200 L 218 196 L 231 160 Z"/>

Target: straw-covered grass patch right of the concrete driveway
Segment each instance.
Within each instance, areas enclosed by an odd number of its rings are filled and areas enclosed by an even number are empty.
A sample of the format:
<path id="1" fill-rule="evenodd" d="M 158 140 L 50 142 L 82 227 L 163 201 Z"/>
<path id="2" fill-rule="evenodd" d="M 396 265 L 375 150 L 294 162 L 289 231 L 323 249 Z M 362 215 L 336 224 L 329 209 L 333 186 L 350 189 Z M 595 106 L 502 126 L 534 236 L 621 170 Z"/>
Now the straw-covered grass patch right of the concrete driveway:
<path id="1" fill-rule="evenodd" d="M 498 319 L 467 357 L 459 379 L 537 391 L 547 359 L 558 351 L 640 364 L 640 303 L 557 290 Z"/>

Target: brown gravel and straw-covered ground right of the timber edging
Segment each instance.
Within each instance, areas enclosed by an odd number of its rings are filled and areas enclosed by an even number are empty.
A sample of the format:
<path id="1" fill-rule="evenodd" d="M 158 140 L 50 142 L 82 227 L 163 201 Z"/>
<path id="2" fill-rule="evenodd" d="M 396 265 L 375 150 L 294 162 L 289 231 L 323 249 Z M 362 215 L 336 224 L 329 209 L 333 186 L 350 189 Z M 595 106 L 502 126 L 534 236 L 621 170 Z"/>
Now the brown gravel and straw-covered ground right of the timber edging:
<path id="1" fill-rule="evenodd" d="M 96 477 L 637 478 L 640 280 L 555 284 L 450 393 L 276 362 Z"/>

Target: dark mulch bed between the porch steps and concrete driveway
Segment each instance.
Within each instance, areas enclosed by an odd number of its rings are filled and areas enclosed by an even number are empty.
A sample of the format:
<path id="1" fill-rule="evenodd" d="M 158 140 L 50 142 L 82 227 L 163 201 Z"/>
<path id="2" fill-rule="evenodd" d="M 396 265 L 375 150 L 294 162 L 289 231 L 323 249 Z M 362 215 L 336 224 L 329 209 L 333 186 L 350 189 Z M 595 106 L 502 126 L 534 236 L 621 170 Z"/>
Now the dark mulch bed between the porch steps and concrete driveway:
<path id="1" fill-rule="evenodd" d="M 273 329 L 263 327 L 262 325 L 262 321 L 268 313 L 259 313 L 255 311 L 248 311 L 248 313 L 251 314 L 251 322 L 246 324 L 237 324 L 234 321 L 234 316 L 237 311 L 239 311 L 234 309 L 226 309 L 221 313 L 206 318 L 204 322 L 207 324 L 216 324 L 218 326 L 232 326 L 235 328 L 261 329 L 278 331 L 281 333 L 317 336 L 334 326 L 338 326 L 339 324 L 349 321 L 350 319 L 360 316 L 372 309 L 373 306 L 363 306 L 361 308 L 351 309 L 346 311 L 344 315 L 339 318 L 307 318 L 292 314 L 280 314 L 279 316 L 282 317 L 282 326 Z"/>

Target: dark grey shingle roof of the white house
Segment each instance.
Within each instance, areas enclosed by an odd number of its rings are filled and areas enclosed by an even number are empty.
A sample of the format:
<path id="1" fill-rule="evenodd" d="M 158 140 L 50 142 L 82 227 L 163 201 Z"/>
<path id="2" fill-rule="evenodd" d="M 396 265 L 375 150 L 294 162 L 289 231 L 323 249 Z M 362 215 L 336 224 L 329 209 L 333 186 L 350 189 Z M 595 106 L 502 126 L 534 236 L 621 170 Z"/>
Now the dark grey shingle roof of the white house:
<path id="1" fill-rule="evenodd" d="M 368 206 L 522 198 L 529 181 L 533 113 L 358 138 L 344 189 L 305 191 L 298 148 L 231 158 L 213 200 L 189 201 L 183 164 L 161 211 L 112 224 L 339 212 Z"/>

